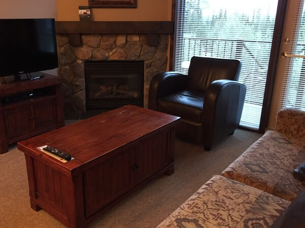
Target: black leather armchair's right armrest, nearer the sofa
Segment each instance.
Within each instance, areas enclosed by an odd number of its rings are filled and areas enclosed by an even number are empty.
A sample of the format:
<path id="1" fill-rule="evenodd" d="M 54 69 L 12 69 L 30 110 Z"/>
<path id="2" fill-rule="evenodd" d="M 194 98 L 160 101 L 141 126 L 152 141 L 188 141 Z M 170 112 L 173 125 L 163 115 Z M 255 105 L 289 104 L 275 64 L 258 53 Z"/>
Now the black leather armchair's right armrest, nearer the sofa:
<path id="1" fill-rule="evenodd" d="M 211 147 L 214 141 L 232 134 L 238 127 L 246 85 L 232 80 L 216 80 L 206 90 L 203 103 L 203 143 Z"/>

